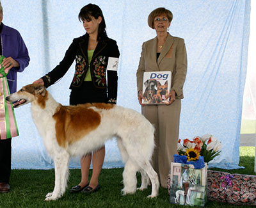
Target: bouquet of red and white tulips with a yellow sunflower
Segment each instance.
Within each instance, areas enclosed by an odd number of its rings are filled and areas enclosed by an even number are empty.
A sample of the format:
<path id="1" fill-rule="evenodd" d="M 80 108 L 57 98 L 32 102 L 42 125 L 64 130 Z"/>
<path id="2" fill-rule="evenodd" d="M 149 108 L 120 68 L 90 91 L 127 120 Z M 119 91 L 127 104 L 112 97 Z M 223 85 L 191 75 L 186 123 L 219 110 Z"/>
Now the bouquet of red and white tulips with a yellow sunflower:
<path id="1" fill-rule="evenodd" d="M 205 163 L 209 163 L 221 152 L 221 142 L 210 134 L 196 136 L 193 140 L 184 140 L 183 144 L 178 141 L 178 154 L 187 156 L 188 161 L 197 161 L 199 156 L 204 156 Z"/>

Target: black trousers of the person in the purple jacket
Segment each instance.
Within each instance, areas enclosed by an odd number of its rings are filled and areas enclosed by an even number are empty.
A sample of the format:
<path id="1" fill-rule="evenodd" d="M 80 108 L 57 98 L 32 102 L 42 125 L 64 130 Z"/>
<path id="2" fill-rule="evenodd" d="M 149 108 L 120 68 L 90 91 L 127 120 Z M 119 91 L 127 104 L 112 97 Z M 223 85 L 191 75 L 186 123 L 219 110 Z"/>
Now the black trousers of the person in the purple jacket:
<path id="1" fill-rule="evenodd" d="M 12 138 L 0 140 L 0 182 L 9 183 L 12 164 Z"/>

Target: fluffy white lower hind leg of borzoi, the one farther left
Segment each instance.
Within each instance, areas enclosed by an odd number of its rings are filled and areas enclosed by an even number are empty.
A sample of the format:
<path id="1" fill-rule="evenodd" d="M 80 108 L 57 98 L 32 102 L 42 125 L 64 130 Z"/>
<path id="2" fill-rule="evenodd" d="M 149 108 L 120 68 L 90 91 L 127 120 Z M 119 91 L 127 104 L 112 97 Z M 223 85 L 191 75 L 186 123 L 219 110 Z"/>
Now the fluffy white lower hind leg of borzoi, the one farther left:
<path id="1" fill-rule="evenodd" d="M 137 186 L 136 173 L 139 168 L 140 167 L 138 167 L 130 158 L 125 163 L 123 172 L 124 188 L 122 189 L 122 195 L 135 193 Z"/>

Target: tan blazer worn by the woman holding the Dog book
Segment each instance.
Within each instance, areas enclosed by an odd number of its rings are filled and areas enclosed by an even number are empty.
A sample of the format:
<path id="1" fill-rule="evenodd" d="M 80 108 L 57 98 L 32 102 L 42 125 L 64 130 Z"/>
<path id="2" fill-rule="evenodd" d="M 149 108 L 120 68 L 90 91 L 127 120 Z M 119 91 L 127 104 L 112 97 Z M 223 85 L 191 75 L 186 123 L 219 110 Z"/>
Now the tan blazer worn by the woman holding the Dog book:
<path id="1" fill-rule="evenodd" d="M 187 74 L 187 52 L 184 39 L 173 37 L 168 33 L 163 49 L 156 60 L 157 37 L 142 45 L 139 67 L 136 73 L 138 92 L 142 90 L 143 73 L 154 71 L 172 72 L 172 86 L 176 98 L 183 98 L 183 85 Z"/>

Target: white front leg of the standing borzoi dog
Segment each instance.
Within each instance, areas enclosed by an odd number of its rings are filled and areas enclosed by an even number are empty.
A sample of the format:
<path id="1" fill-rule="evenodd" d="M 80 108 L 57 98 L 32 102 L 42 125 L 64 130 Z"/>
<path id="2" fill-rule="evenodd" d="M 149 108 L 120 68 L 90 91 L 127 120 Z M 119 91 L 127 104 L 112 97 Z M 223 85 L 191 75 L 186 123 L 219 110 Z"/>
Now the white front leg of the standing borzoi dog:
<path id="1" fill-rule="evenodd" d="M 65 193 L 68 179 L 68 163 L 69 155 L 67 152 L 58 154 L 54 158 L 55 185 L 52 193 L 48 193 L 45 196 L 46 201 L 57 200 Z"/>

